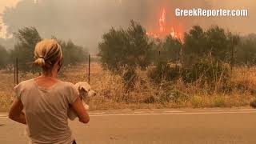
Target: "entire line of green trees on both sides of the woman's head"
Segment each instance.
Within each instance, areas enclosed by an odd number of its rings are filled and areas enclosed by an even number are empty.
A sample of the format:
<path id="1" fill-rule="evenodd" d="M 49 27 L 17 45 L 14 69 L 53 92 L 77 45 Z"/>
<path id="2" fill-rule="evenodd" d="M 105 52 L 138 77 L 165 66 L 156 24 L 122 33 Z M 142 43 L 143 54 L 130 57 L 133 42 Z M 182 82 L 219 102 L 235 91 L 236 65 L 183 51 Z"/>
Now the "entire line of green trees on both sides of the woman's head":
<path id="1" fill-rule="evenodd" d="M 31 65 L 34 46 L 42 37 L 34 27 L 24 27 L 14 34 L 17 42 L 13 50 L 0 43 L 0 68 L 14 63 L 18 58 L 21 70 L 36 70 Z M 54 38 L 54 37 L 53 37 Z M 56 38 L 58 39 L 58 38 Z M 72 42 L 58 39 L 64 54 L 64 65 L 86 61 L 87 50 Z M 138 22 L 131 21 L 126 29 L 111 28 L 102 35 L 98 44 L 102 66 L 117 72 L 124 67 L 146 69 L 159 60 L 192 66 L 207 54 L 230 65 L 254 66 L 256 64 L 256 34 L 241 36 L 219 26 L 203 30 L 193 26 L 181 41 L 167 35 L 164 39 L 152 38 Z"/>

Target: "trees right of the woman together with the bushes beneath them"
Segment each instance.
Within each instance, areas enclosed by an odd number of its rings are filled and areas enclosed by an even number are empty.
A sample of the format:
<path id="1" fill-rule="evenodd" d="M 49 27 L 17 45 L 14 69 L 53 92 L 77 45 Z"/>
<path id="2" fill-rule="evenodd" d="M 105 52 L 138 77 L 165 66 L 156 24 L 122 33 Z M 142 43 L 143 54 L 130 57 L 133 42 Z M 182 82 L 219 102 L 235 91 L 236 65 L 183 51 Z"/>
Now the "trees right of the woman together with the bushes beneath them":
<path id="1" fill-rule="evenodd" d="M 111 28 L 103 34 L 98 49 L 103 68 L 121 74 L 130 84 L 137 68 L 154 66 L 148 75 L 157 82 L 175 78 L 217 82 L 219 77 L 228 80 L 235 65 L 256 64 L 256 34 L 241 36 L 220 26 L 206 30 L 193 26 L 182 40 L 171 35 L 160 39 L 150 37 L 143 26 L 130 21 L 126 29 Z"/>

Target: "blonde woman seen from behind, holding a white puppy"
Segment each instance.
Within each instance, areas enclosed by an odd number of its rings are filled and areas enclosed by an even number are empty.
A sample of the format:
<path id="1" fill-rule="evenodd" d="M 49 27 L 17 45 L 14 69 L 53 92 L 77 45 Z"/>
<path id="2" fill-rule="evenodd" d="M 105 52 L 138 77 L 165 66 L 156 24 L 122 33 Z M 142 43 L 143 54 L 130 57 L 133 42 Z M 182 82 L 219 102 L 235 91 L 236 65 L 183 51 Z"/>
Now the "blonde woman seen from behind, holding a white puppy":
<path id="1" fill-rule="evenodd" d="M 17 98 L 9 118 L 28 126 L 30 143 L 76 143 L 68 126 L 68 108 L 73 108 L 80 122 L 87 123 L 90 118 L 74 85 L 57 78 L 61 46 L 54 39 L 42 40 L 35 46 L 34 58 L 42 75 L 14 87 Z"/>

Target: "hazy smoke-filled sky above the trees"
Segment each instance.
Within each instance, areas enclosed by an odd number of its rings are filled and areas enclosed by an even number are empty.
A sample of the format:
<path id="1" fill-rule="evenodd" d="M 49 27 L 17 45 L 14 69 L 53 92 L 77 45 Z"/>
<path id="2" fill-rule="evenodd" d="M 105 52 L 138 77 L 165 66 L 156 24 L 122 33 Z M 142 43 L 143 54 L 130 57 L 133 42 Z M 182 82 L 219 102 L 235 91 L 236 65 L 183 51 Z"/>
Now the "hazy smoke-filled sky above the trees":
<path id="1" fill-rule="evenodd" d="M 35 4 L 37 2 L 37 4 Z M 18 3 L 18 5 L 17 5 Z M 17 6 L 16 6 L 17 5 Z M 240 34 L 256 33 L 255 0 L 0 0 L 0 14 L 5 7 L 13 7 L 0 16 L 0 38 L 23 26 L 35 26 L 43 38 L 71 38 L 92 51 L 97 50 L 102 34 L 111 26 L 127 26 L 130 19 L 140 22 L 146 30 L 158 29 L 161 10 L 166 8 L 170 26 L 222 26 Z M 175 8 L 247 9 L 246 18 L 176 18 Z M 7 31 L 5 25 L 9 26 Z M 7 35 L 8 37 L 8 35 Z M 10 35 L 9 35 L 10 37 Z"/>

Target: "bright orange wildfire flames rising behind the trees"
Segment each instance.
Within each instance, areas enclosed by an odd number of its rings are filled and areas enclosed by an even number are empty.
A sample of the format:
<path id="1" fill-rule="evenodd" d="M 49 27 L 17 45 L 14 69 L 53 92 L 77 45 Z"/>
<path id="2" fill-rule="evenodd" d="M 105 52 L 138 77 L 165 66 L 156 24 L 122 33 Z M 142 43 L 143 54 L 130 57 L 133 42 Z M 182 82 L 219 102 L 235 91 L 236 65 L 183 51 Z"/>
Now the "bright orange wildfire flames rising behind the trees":
<path id="1" fill-rule="evenodd" d="M 166 25 L 166 9 L 162 9 L 161 16 L 158 19 L 158 26 L 158 30 L 148 31 L 146 34 L 154 38 L 165 38 L 166 35 L 170 35 L 172 38 L 182 40 L 182 30 L 175 30 L 174 26 Z"/>

